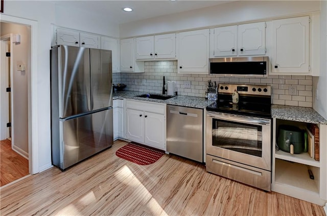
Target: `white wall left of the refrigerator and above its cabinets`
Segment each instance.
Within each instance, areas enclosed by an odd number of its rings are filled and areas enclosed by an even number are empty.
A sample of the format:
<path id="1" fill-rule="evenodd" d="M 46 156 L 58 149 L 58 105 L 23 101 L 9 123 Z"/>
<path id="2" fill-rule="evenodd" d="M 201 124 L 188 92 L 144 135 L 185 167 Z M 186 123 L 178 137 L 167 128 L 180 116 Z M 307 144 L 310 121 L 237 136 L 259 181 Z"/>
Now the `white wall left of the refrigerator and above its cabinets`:
<path id="1" fill-rule="evenodd" d="M 50 48 L 53 37 L 52 24 L 66 28 L 118 37 L 118 25 L 108 24 L 107 20 L 76 9 L 56 8 L 52 1 L 5 1 L 4 14 L 37 21 L 37 101 L 39 171 L 51 167 L 51 127 L 50 127 Z M 100 22 L 101 20 L 101 22 Z M 82 21 L 82 22 L 81 22 Z M 95 24 L 96 23 L 96 24 Z M 30 58 L 30 57 L 29 57 Z"/>

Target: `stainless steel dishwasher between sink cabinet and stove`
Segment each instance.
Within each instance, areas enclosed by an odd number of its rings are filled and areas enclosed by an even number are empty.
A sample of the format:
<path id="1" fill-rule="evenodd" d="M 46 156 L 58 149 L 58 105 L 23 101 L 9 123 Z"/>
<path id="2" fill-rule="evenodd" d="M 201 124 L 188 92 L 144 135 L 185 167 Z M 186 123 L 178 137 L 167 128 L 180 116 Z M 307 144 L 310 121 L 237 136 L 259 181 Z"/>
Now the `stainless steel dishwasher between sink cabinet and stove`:
<path id="1" fill-rule="evenodd" d="M 167 105 L 167 151 L 203 162 L 203 110 Z"/>

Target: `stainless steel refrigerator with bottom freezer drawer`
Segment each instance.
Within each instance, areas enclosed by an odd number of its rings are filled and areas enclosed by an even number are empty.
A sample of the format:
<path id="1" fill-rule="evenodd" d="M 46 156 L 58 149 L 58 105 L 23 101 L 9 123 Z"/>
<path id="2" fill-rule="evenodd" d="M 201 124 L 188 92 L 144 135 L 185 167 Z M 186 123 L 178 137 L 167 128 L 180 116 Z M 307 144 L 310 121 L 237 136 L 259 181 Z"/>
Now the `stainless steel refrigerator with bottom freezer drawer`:
<path id="1" fill-rule="evenodd" d="M 52 164 L 62 171 L 113 143 L 111 51 L 51 49 Z"/>

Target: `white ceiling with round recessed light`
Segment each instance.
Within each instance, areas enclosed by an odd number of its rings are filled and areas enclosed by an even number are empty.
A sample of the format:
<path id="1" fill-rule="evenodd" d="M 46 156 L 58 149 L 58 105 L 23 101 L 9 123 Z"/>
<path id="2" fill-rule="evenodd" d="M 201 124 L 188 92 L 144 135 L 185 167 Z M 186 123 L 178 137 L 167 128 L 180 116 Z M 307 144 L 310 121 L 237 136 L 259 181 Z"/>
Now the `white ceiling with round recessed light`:
<path id="1" fill-rule="evenodd" d="M 58 6 L 67 8 L 79 8 L 80 10 L 92 11 L 110 19 L 114 23 L 126 23 L 136 20 L 147 19 L 156 16 L 169 15 L 183 11 L 190 11 L 199 8 L 211 7 L 235 0 L 211 0 L 211 1 L 190 1 L 190 0 L 148 0 L 148 1 L 54 1 Z M 132 12 L 125 12 L 125 7 L 132 8 Z"/>

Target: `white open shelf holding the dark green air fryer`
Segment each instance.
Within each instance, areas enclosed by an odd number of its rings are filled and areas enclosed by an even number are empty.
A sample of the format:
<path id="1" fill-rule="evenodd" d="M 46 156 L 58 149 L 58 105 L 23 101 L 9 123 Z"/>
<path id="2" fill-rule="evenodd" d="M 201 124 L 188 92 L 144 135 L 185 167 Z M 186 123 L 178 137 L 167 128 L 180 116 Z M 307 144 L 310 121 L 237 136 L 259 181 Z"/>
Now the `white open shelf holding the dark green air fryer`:
<path id="1" fill-rule="evenodd" d="M 308 152 L 303 152 L 300 154 L 290 154 L 282 150 L 275 150 L 275 158 L 293 161 L 299 164 L 305 164 L 313 167 L 320 167 L 319 161 L 311 158 Z"/>

